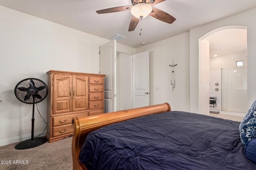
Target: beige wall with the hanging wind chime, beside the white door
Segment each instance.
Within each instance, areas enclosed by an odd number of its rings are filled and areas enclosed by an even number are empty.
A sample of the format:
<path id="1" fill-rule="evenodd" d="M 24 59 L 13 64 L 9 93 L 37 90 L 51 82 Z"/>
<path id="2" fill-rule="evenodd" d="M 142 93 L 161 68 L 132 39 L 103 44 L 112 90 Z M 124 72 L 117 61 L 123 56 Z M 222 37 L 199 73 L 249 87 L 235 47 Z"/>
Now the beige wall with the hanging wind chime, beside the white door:
<path id="1" fill-rule="evenodd" d="M 168 102 L 172 110 L 189 111 L 189 32 L 136 49 L 136 53 L 143 51 L 150 51 L 150 105 Z M 178 64 L 174 92 L 172 59 Z"/>

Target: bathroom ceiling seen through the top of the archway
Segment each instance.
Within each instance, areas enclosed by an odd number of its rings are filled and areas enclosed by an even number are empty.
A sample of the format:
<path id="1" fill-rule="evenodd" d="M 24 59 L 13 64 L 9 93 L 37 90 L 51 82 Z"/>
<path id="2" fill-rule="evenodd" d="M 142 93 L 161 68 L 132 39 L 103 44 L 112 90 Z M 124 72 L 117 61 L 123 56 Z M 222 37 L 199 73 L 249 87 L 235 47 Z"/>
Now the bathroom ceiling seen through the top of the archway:
<path id="1" fill-rule="evenodd" d="M 246 29 L 224 29 L 206 37 L 206 40 L 210 43 L 210 57 L 247 53 Z"/>

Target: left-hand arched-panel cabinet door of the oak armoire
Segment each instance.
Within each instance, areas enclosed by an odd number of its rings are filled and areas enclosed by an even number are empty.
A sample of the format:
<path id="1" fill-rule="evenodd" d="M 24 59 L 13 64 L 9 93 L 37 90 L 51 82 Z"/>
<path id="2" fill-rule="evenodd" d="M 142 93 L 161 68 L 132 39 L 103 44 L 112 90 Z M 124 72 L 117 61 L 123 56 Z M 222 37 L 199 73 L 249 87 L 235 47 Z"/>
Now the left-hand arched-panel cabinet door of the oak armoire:
<path id="1" fill-rule="evenodd" d="M 72 111 L 72 75 L 54 75 L 53 114 Z"/>

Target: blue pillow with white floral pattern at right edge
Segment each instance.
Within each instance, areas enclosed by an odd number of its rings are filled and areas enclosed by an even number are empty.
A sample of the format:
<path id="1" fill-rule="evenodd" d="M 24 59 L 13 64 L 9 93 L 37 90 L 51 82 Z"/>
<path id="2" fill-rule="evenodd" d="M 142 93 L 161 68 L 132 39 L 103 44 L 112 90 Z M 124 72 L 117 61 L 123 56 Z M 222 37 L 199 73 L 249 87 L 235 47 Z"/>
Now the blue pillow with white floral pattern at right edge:
<path id="1" fill-rule="evenodd" d="M 256 139 L 256 100 L 240 123 L 239 131 L 243 146 L 246 146 L 248 141 Z"/>

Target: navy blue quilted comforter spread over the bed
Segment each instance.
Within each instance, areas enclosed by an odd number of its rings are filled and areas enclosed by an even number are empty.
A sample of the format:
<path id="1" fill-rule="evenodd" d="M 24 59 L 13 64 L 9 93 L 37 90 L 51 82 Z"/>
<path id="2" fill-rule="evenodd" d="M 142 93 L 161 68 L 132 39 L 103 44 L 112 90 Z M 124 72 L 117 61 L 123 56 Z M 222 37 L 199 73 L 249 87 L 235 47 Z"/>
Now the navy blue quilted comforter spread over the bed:
<path id="1" fill-rule="evenodd" d="M 88 170 L 256 170 L 244 156 L 239 122 L 170 111 L 102 127 L 88 135 Z"/>

